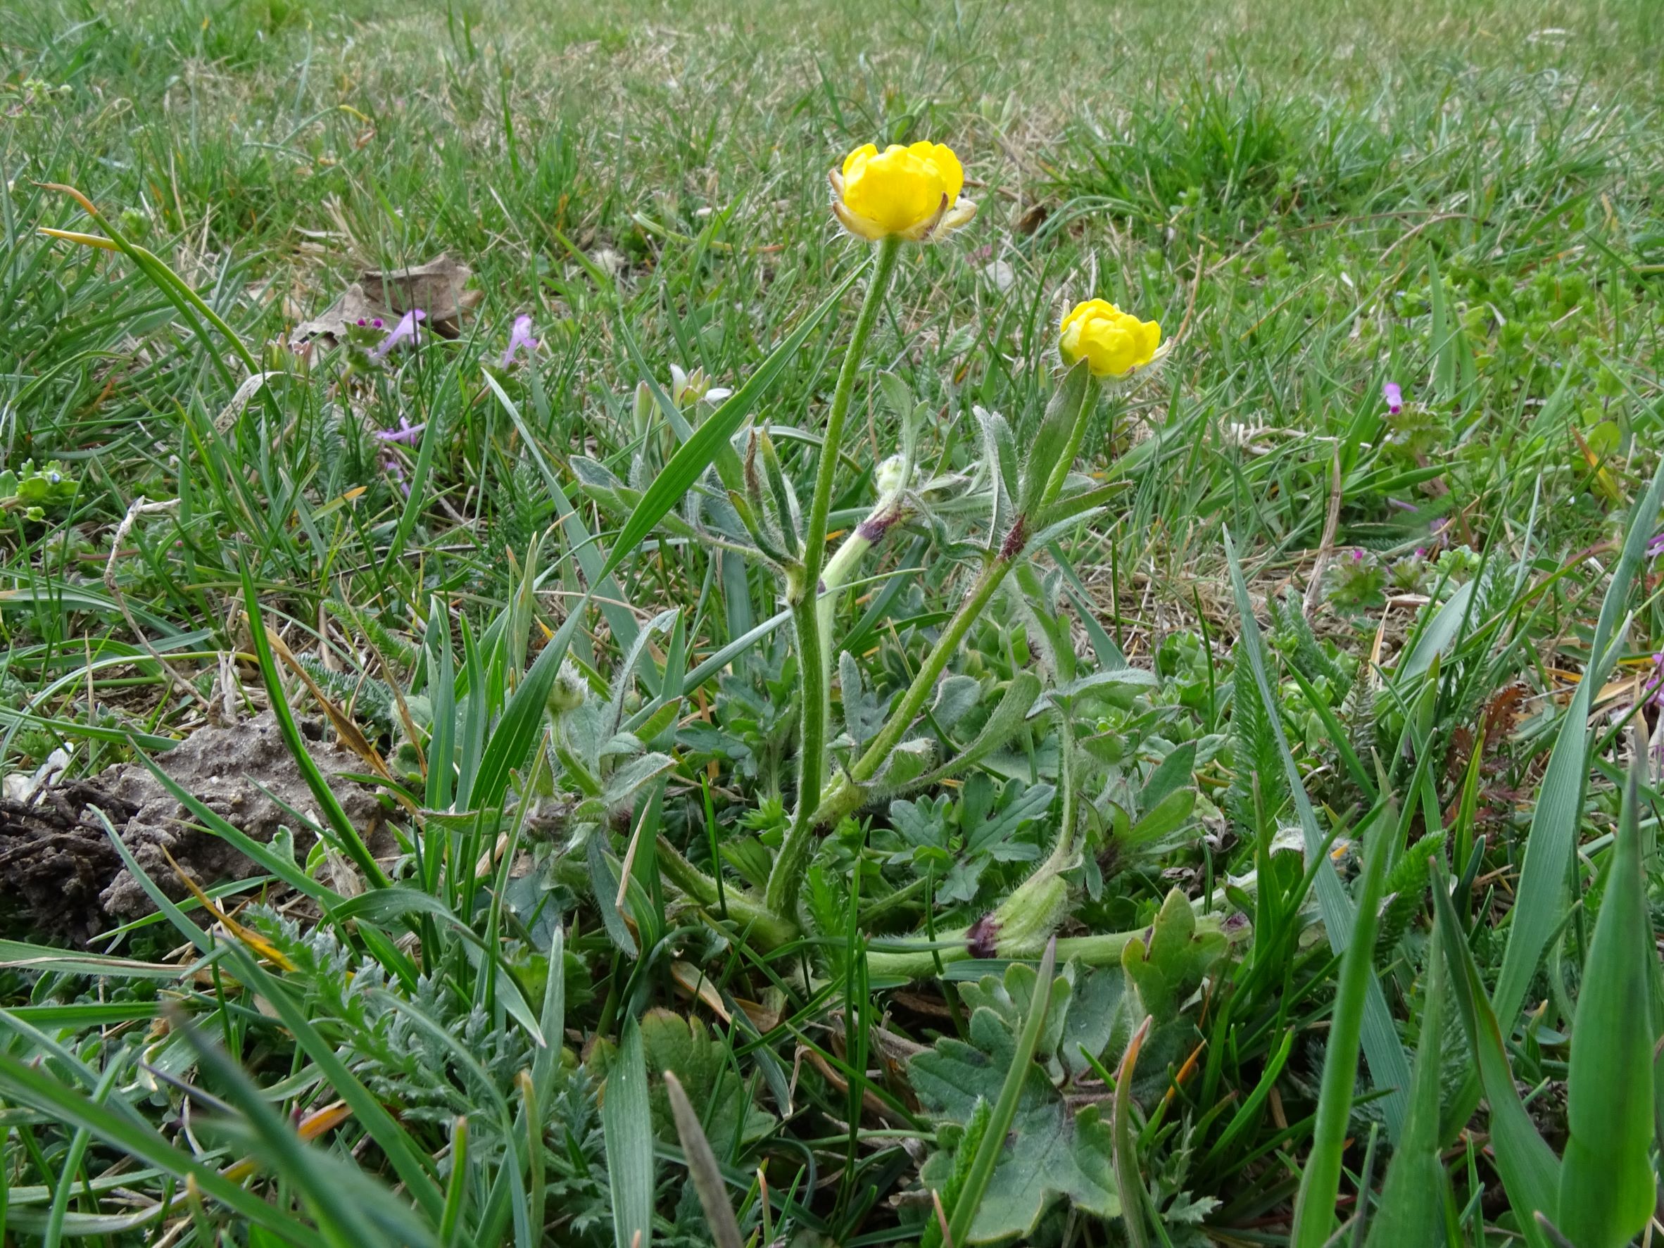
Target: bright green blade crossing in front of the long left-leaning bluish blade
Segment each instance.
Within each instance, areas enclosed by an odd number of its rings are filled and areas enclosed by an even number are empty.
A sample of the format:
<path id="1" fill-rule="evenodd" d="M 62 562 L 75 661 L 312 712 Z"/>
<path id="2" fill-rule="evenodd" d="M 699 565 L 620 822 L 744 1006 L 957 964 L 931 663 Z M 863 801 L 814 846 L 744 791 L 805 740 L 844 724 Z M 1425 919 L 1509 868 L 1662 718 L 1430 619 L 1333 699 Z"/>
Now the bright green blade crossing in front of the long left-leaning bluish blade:
<path id="1" fill-rule="evenodd" d="M 1369 839 L 1363 880 L 1358 885 L 1358 914 L 1351 938 L 1341 957 L 1335 1012 L 1323 1055 L 1323 1092 L 1318 1095 L 1318 1122 L 1311 1132 L 1311 1153 L 1300 1175 L 1295 1201 L 1295 1226 L 1288 1236 L 1293 1248 L 1323 1248 L 1335 1230 L 1335 1201 L 1341 1190 L 1341 1155 L 1346 1151 L 1346 1125 L 1351 1118 L 1353 1087 L 1358 1083 L 1358 1043 L 1363 1015 L 1374 978 L 1374 932 L 1381 915 L 1381 884 L 1386 879 L 1386 855 L 1396 829 L 1378 820 Z"/>

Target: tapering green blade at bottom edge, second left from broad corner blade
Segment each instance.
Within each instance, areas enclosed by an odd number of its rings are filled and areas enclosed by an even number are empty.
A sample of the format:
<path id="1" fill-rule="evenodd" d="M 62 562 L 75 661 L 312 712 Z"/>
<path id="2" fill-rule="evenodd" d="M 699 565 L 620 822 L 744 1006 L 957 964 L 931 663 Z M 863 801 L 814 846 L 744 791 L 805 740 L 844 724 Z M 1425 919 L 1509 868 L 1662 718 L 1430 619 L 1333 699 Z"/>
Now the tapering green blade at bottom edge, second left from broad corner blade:
<path id="1" fill-rule="evenodd" d="M 1368 1248 L 1434 1248 L 1444 1243 L 1444 1200 L 1449 1180 L 1439 1161 L 1439 1075 L 1448 972 L 1438 929 L 1428 940 L 1426 977 L 1409 1117 L 1386 1166 L 1381 1200 L 1369 1225 Z"/>

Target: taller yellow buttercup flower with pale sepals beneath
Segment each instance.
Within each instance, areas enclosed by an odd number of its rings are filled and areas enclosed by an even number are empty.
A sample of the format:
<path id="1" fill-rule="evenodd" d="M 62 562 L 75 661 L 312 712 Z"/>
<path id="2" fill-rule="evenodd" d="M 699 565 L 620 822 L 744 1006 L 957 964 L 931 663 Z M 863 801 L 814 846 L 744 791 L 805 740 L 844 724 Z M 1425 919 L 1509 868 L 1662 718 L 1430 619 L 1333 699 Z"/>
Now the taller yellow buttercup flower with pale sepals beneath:
<path id="1" fill-rule="evenodd" d="M 892 143 L 884 151 L 867 143 L 832 170 L 832 211 L 857 238 L 930 243 L 977 215 L 963 188 L 965 170 L 942 143 Z"/>

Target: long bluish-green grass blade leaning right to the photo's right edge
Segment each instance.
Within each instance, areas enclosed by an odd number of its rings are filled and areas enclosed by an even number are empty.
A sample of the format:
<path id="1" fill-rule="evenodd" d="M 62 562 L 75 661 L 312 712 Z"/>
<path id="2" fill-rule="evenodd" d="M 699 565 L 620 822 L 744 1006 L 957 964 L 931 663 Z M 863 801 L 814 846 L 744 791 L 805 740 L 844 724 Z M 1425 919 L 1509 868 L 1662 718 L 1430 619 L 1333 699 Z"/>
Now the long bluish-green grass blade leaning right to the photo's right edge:
<path id="1" fill-rule="evenodd" d="M 1607 586 L 1601 617 L 1594 627 L 1589 669 L 1577 682 L 1577 692 L 1554 739 L 1549 765 L 1543 772 L 1531 832 L 1526 835 L 1526 857 L 1519 869 L 1519 894 L 1508 930 L 1503 970 L 1491 995 L 1496 1017 L 1509 1028 L 1519 1015 L 1531 978 L 1538 973 L 1538 962 L 1549 935 L 1566 917 L 1566 880 L 1571 874 L 1571 855 L 1582 820 L 1582 792 L 1589 774 L 1589 706 L 1606 681 L 1606 651 L 1629 601 L 1629 586 L 1646 559 L 1661 499 L 1664 499 L 1664 464 L 1659 464 L 1652 486 L 1629 513 L 1624 551 L 1612 571 L 1612 582 Z"/>

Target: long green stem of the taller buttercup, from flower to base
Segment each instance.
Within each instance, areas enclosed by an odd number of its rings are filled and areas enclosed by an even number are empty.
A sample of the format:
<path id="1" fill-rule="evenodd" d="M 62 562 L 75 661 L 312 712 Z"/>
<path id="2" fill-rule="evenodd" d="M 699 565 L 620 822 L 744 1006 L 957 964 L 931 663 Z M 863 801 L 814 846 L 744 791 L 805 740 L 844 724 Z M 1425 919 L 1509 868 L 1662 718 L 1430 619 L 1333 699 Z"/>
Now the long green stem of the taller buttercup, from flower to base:
<path id="1" fill-rule="evenodd" d="M 820 569 L 825 564 L 827 513 L 832 511 L 832 483 L 837 476 L 839 449 L 844 444 L 844 423 L 849 418 L 849 401 L 855 393 L 855 376 L 867 354 L 867 339 L 879 323 L 884 295 L 895 275 L 902 240 L 885 238 L 872 258 L 872 276 L 867 280 L 867 298 L 855 318 L 844 366 L 832 391 L 832 411 L 827 414 L 825 439 L 820 443 L 820 466 L 815 473 L 815 493 L 809 504 L 809 521 L 804 529 L 802 591 L 792 602 L 792 626 L 797 631 L 797 681 L 802 687 L 797 749 L 797 810 L 785 834 L 780 854 L 769 872 L 764 889 L 764 905 L 775 915 L 790 920 L 797 910 L 797 889 L 802 884 L 809 850 L 814 845 L 814 815 L 820 805 L 822 775 L 827 750 L 827 667 L 822 649 L 830 644 L 820 636 Z"/>

